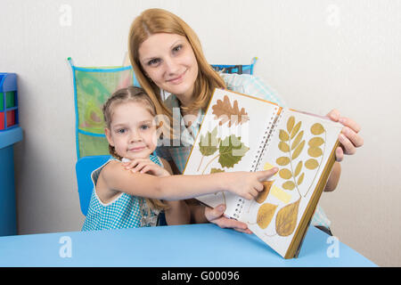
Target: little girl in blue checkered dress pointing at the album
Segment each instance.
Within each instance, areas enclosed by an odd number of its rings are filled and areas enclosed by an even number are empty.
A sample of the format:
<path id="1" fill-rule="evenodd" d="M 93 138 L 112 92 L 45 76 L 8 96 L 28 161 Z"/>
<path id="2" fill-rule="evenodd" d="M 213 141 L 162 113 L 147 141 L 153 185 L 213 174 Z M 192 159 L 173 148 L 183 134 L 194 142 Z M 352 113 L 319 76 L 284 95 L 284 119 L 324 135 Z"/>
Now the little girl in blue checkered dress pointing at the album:
<path id="1" fill-rule="evenodd" d="M 216 191 L 253 199 L 263 190 L 261 181 L 278 170 L 171 175 L 168 162 L 151 155 L 157 146 L 156 114 L 151 98 L 133 86 L 104 104 L 105 134 L 114 158 L 92 173 L 94 191 L 83 231 L 154 226 L 162 209 L 168 224 L 188 224 L 190 212 L 180 199 Z M 123 159 L 130 161 L 129 170 Z"/>

